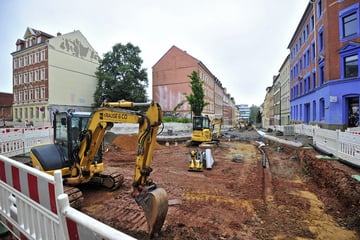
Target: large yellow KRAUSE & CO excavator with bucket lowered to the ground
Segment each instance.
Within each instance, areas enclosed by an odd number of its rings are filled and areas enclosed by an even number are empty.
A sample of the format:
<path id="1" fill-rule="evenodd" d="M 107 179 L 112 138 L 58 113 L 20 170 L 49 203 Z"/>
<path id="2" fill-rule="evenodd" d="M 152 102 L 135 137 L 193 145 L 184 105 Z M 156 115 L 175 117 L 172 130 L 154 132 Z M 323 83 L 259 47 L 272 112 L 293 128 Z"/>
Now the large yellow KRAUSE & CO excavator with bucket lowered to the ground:
<path id="1" fill-rule="evenodd" d="M 145 112 L 136 108 L 147 108 Z M 142 207 L 150 236 L 160 232 L 168 211 L 168 197 L 163 188 L 151 180 L 150 167 L 162 111 L 159 104 L 128 101 L 104 102 L 92 113 L 59 112 L 54 114 L 54 143 L 34 146 L 30 151 L 33 167 L 53 175 L 61 170 L 65 193 L 73 207 L 81 207 L 84 183 L 117 189 L 124 177 L 108 173 L 102 161 L 102 142 L 114 123 L 139 124 L 135 176 L 132 196 Z"/>

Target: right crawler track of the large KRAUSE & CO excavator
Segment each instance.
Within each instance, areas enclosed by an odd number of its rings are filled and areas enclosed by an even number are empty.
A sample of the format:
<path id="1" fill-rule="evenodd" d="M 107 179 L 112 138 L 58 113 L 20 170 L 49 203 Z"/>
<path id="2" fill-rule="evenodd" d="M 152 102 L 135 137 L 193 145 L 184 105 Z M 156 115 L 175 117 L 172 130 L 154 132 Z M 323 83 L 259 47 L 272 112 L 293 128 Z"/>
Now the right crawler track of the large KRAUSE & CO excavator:
<path id="1" fill-rule="evenodd" d="M 124 183 L 124 176 L 117 172 L 104 171 L 94 175 L 90 183 L 100 185 L 110 191 L 114 191 Z"/>

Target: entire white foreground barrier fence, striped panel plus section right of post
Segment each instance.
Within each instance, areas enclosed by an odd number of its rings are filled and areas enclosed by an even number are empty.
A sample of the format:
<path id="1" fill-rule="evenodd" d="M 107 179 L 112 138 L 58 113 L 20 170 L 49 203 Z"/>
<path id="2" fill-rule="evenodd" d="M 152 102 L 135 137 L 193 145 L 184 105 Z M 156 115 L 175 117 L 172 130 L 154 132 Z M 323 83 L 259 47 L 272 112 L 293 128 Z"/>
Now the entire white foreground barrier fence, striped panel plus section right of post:
<path id="1" fill-rule="evenodd" d="M 54 176 L 0 155 L 0 222 L 18 239 L 134 239 L 70 207 Z"/>

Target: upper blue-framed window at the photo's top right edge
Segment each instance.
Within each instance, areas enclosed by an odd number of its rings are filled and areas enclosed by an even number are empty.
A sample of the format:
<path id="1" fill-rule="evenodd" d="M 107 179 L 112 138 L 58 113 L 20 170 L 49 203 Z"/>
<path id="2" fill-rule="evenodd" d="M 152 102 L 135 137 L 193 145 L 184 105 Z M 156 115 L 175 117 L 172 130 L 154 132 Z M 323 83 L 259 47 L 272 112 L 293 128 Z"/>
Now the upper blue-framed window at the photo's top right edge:
<path id="1" fill-rule="evenodd" d="M 339 12 L 340 41 L 348 41 L 360 36 L 360 3 Z"/>

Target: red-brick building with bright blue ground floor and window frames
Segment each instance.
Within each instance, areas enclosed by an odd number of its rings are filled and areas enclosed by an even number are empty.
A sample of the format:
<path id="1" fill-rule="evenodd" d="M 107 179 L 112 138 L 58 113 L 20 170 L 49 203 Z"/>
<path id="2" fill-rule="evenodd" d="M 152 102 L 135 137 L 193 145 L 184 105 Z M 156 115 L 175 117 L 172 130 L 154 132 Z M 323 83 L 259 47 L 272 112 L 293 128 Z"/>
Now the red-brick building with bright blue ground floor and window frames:
<path id="1" fill-rule="evenodd" d="M 360 3 L 312 0 L 288 45 L 291 121 L 328 129 L 359 121 Z"/>

